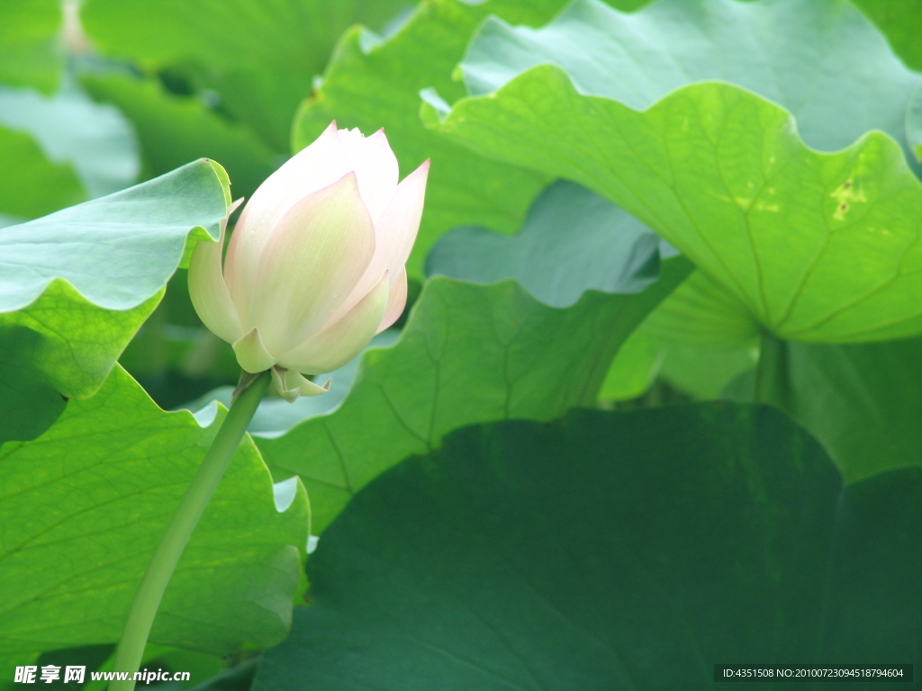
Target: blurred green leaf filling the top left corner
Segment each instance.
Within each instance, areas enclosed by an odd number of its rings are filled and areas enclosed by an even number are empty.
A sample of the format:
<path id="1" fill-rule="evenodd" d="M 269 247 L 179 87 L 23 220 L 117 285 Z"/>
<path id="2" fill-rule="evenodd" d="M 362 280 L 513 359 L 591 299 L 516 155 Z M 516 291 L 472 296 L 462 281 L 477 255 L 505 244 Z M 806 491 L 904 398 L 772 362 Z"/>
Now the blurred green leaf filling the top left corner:
<path id="1" fill-rule="evenodd" d="M 51 93 L 64 71 L 58 43 L 59 0 L 16 0 L 3 5 L 0 21 L 0 82 Z"/>

